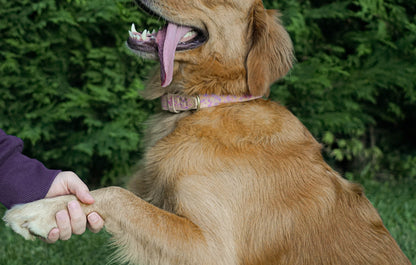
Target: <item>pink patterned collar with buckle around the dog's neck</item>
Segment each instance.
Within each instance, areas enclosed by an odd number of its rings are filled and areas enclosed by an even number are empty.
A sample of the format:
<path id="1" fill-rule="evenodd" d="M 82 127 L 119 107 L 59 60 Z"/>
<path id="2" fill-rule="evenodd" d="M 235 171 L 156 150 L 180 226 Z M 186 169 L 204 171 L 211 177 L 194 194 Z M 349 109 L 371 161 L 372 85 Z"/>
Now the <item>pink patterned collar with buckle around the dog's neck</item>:
<path id="1" fill-rule="evenodd" d="M 162 96 L 162 109 L 173 113 L 179 113 L 182 111 L 214 107 L 224 103 L 245 102 L 257 98 L 261 98 L 261 96 L 184 96 L 168 93 Z"/>

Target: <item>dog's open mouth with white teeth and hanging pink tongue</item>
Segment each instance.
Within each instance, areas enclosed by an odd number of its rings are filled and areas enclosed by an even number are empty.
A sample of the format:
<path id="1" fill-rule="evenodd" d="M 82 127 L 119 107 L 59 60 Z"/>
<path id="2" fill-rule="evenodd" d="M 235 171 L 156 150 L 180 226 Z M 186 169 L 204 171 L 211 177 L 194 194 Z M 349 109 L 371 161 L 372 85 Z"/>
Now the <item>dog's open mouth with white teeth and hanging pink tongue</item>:
<path id="1" fill-rule="evenodd" d="M 172 82 L 175 52 L 195 49 L 207 39 L 202 30 L 172 22 L 167 22 L 158 32 L 147 30 L 138 32 L 135 25 L 132 24 L 129 33 L 127 45 L 130 49 L 140 53 L 158 55 L 163 87 Z"/>

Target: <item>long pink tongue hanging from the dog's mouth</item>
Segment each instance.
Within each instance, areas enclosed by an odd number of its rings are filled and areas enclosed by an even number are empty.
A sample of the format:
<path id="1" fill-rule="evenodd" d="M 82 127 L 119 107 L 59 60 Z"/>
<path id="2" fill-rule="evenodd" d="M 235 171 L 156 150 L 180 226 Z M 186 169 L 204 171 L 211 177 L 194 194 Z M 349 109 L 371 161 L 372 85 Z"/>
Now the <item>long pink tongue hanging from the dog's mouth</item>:
<path id="1" fill-rule="evenodd" d="M 191 30 L 188 27 L 169 23 L 167 27 L 157 33 L 156 42 L 159 47 L 162 87 L 167 87 L 172 82 L 176 47 L 183 36 Z"/>

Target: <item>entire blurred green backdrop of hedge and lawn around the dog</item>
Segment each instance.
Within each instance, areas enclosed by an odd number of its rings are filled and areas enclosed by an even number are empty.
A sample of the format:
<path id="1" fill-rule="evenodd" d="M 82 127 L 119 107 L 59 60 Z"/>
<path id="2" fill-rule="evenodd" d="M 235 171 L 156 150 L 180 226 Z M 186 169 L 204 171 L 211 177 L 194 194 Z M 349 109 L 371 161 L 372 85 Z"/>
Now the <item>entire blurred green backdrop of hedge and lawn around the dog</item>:
<path id="1" fill-rule="evenodd" d="M 281 10 L 297 60 L 271 99 L 323 143 L 332 167 L 364 186 L 415 263 L 416 2 L 264 3 Z M 163 23 L 131 0 L 0 0 L 0 128 L 24 140 L 26 155 L 93 188 L 124 184 L 158 105 L 138 94 L 155 63 L 125 47 L 132 22 Z M 0 264 L 102 264 L 107 239 L 49 246 L 0 225 Z"/>

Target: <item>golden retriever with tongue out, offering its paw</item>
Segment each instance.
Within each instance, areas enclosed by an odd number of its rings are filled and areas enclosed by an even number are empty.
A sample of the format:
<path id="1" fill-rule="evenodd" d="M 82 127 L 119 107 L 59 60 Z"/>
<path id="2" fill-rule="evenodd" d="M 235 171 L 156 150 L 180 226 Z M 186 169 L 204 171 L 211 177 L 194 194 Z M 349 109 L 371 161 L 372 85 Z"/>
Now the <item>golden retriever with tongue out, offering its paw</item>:
<path id="1" fill-rule="evenodd" d="M 165 19 L 128 47 L 160 61 L 162 98 L 129 190 L 92 192 L 133 264 L 410 264 L 362 189 L 321 156 L 285 107 L 264 99 L 292 67 L 291 40 L 261 0 L 141 0 Z M 160 70 L 160 71 L 159 71 Z M 73 196 L 19 205 L 4 220 L 47 237 Z"/>

